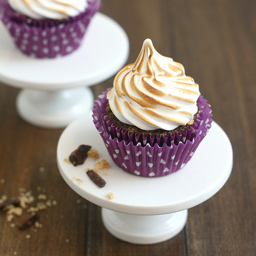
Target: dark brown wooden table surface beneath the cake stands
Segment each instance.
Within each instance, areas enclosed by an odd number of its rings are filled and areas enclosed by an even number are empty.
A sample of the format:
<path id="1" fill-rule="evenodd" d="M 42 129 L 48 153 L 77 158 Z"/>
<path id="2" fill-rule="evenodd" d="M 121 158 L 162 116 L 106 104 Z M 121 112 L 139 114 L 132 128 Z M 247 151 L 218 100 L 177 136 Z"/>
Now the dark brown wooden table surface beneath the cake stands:
<path id="1" fill-rule="evenodd" d="M 127 63 L 151 38 L 160 54 L 194 77 L 231 141 L 231 176 L 215 196 L 189 209 L 175 238 L 155 245 L 122 242 L 104 228 L 100 207 L 61 178 L 56 146 L 63 129 L 26 123 L 15 108 L 19 90 L 0 84 L 0 197 L 17 197 L 24 188 L 35 201 L 44 194 L 57 203 L 39 212 L 41 228 L 19 230 L 11 224 L 19 218 L 8 222 L 1 211 L 0 255 L 255 255 L 256 2 L 103 0 L 101 12 L 129 36 Z M 95 96 L 112 82 L 93 86 Z"/>

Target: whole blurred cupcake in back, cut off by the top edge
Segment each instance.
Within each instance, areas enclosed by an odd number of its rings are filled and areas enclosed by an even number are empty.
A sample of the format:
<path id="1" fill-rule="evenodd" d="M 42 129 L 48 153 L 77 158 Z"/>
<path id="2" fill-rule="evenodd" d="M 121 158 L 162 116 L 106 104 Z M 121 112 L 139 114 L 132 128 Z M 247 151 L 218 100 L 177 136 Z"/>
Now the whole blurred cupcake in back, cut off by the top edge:
<path id="1" fill-rule="evenodd" d="M 81 44 L 100 0 L 0 0 L 0 18 L 15 45 L 37 58 L 54 58 Z"/>

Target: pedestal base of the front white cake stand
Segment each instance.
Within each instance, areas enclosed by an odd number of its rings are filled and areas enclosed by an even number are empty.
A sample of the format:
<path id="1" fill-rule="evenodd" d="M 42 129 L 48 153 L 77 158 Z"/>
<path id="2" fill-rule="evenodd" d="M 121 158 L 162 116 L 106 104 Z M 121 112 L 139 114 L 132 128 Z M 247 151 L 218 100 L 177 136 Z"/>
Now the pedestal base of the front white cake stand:
<path id="1" fill-rule="evenodd" d="M 187 211 L 146 216 L 101 208 L 101 218 L 105 228 L 120 240 L 133 244 L 156 244 L 175 237 L 184 228 Z"/>

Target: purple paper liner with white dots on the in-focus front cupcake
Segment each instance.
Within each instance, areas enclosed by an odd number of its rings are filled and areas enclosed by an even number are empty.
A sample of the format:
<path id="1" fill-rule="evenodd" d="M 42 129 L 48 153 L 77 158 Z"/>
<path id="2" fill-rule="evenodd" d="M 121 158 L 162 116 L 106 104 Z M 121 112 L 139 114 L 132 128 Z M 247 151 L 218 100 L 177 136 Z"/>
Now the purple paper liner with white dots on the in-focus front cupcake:
<path id="1" fill-rule="evenodd" d="M 106 93 L 103 92 L 95 100 L 93 108 L 93 122 L 101 135 L 105 146 L 113 161 L 125 172 L 144 177 L 160 177 L 176 172 L 182 168 L 194 155 L 198 145 L 208 133 L 212 115 L 207 101 L 200 95 L 198 118 L 195 125 L 191 125 L 191 132 L 181 134 L 177 138 L 140 138 L 134 133 L 123 135 L 116 125 L 109 125 L 110 121 L 104 115 Z M 112 137 L 114 135 L 114 137 Z M 188 137 L 193 137 L 191 140 Z M 121 138 L 124 139 L 121 139 Z M 129 140 L 130 139 L 130 140 Z M 141 139 L 144 142 L 141 143 Z M 179 141 L 178 141 L 179 140 Z M 167 143 L 165 143 L 167 142 Z M 146 144 L 145 144 L 146 143 Z M 152 144 L 151 144 L 152 143 Z"/>

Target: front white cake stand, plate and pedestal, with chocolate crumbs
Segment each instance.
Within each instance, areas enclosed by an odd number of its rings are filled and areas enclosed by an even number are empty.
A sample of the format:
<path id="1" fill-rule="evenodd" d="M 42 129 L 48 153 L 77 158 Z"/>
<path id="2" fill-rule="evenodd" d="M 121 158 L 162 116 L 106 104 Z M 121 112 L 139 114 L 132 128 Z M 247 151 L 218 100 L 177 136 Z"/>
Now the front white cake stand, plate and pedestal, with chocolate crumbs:
<path id="1" fill-rule="evenodd" d="M 93 168 L 90 157 L 82 165 L 64 161 L 80 144 L 91 145 L 111 167 L 99 169 L 103 188 L 87 176 Z M 81 197 L 102 207 L 102 221 L 113 236 L 135 244 L 154 244 L 178 234 L 187 219 L 187 209 L 211 196 L 227 181 L 233 163 L 230 141 L 216 123 L 191 160 L 178 172 L 156 178 L 124 172 L 112 161 L 96 130 L 91 114 L 75 120 L 63 131 L 57 145 L 61 176 Z M 107 194 L 112 192 L 113 199 Z"/>

